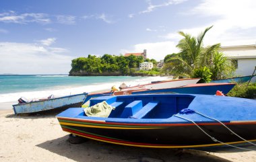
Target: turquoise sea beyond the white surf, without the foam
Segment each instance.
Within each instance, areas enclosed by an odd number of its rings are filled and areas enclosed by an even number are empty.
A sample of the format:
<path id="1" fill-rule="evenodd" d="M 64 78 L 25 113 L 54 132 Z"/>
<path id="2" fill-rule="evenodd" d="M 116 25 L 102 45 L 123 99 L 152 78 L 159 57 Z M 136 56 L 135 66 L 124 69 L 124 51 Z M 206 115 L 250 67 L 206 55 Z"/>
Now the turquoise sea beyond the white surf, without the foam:
<path id="1" fill-rule="evenodd" d="M 119 81 L 132 81 L 141 77 L 69 77 L 67 75 L 0 75 L 0 94 L 20 91 L 38 91 L 64 86 L 84 86 Z"/>

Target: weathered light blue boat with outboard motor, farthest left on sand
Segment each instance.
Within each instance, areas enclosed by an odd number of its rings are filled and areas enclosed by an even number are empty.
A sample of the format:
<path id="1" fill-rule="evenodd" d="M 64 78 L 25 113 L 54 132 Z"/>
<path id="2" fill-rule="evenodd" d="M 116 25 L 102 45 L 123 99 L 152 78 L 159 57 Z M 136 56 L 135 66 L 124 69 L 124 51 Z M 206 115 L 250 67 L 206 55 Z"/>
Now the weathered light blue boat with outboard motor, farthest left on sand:
<path id="1" fill-rule="evenodd" d="M 76 95 L 66 95 L 63 97 L 55 97 L 50 99 L 39 99 L 34 102 L 25 102 L 23 104 L 13 105 L 15 114 L 28 114 L 33 112 L 42 112 L 45 110 L 53 110 L 56 108 L 70 108 L 72 106 L 81 106 L 88 93 L 81 93 Z M 20 98 L 19 102 L 24 102 Z"/>

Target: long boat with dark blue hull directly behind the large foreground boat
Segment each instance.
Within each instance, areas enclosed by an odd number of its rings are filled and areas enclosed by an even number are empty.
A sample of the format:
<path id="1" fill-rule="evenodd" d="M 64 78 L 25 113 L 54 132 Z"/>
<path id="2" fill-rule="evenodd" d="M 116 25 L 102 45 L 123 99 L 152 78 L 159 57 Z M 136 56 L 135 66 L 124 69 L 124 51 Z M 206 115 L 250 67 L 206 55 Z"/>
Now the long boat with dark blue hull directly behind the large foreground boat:
<path id="1" fill-rule="evenodd" d="M 203 95 L 215 95 L 216 91 L 222 91 L 227 94 L 233 87 L 234 83 L 197 83 L 189 84 L 181 87 L 171 87 L 164 89 L 123 89 L 122 91 L 115 91 L 113 95 L 128 95 L 128 94 L 142 94 L 142 93 L 192 93 Z"/>

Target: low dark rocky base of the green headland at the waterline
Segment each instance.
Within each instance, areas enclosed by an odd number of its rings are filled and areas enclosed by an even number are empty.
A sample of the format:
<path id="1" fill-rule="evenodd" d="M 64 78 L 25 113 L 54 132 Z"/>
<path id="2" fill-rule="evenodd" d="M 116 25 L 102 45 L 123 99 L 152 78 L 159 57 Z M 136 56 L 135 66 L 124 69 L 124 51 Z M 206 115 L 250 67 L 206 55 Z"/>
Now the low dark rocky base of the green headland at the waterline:
<path id="1" fill-rule="evenodd" d="M 69 72 L 69 76 L 120 76 L 123 75 L 121 71 L 110 71 L 110 72 L 103 72 L 103 73 L 88 73 L 86 71 L 71 71 Z"/>

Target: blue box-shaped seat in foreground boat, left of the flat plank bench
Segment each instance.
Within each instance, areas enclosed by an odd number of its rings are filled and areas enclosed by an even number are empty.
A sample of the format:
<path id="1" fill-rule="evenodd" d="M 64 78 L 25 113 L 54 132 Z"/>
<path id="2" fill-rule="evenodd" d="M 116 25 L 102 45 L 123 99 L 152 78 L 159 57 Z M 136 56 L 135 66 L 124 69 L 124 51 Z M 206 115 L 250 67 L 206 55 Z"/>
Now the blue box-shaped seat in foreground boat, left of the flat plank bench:
<path id="1" fill-rule="evenodd" d="M 130 104 L 125 106 L 120 118 L 128 118 L 129 116 L 133 116 L 134 114 L 139 112 L 139 110 L 141 108 L 142 108 L 142 101 L 141 100 L 131 102 Z"/>

